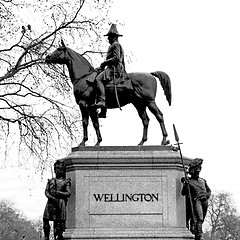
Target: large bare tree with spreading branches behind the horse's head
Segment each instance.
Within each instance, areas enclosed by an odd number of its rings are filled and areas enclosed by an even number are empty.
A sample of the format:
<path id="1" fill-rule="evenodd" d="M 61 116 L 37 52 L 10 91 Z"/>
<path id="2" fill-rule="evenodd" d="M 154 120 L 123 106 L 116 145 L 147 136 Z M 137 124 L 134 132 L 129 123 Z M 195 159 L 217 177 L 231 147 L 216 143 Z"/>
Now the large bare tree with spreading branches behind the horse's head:
<path id="1" fill-rule="evenodd" d="M 80 53 L 101 53 L 108 6 L 106 0 L 0 0 L 0 140 L 6 154 L 18 146 L 18 156 L 37 158 L 43 169 L 75 143 L 81 132 L 69 77 L 44 59 L 62 38 Z"/>

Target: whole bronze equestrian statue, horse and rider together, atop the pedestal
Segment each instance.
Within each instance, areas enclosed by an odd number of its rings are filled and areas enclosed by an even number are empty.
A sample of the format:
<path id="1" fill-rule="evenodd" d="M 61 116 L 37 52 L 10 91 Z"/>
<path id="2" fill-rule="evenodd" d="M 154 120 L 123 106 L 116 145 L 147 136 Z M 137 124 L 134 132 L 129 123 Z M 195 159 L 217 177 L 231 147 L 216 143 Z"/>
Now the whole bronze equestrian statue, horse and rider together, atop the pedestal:
<path id="1" fill-rule="evenodd" d="M 108 37 L 109 48 L 106 60 L 100 68 L 94 68 L 81 54 L 66 47 L 63 41 L 52 54 L 46 56 L 46 63 L 66 64 L 76 103 L 82 114 L 83 140 L 79 146 L 85 146 L 88 140 L 89 117 L 93 122 L 99 146 L 102 137 L 99 129 L 99 118 L 106 117 L 107 109 L 120 108 L 131 103 L 136 108 L 143 124 L 143 136 L 138 145 L 147 141 L 149 117 L 148 108 L 156 117 L 162 130 L 161 145 L 168 145 L 168 134 L 165 128 L 163 114 L 155 103 L 157 81 L 159 79 L 166 99 L 171 105 L 172 93 L 169 76 L 162 71 L 152 73 L 132 72 L 126 73 L 123 48 L 118 42 L 116 25 L 112 24 Z M 98 112 L 98 108 L 101 112 Z"/>

